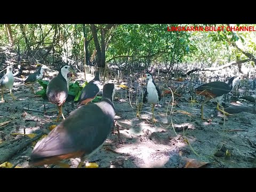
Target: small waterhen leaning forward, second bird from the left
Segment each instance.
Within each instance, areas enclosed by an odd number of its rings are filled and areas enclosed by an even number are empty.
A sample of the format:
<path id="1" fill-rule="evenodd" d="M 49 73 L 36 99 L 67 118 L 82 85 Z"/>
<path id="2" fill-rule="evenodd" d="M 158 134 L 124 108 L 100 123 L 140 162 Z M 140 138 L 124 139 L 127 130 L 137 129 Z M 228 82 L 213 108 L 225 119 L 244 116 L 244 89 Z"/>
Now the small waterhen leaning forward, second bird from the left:
<path id="1" fill-rule="evenodd" d="M 37 82 L 37 80 L 43 78 L 46 69 L 49 69 L 49 67 L 46 67 L 45 65 L 40 66 L 35 73 L 30 74 L 28 78 L 25 80 L 25 85 L 30 87 L 32 93 L 34 93 L 33 85 Z"/>

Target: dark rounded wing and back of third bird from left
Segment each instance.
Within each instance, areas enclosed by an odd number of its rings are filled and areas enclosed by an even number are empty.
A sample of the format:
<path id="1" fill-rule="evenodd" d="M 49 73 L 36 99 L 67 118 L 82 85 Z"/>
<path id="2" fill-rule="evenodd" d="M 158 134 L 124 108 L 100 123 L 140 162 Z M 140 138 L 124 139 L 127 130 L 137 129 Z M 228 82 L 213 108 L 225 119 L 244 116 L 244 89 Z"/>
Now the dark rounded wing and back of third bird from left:
<path id="1" fill-rule="evenodd" d="M 64 80 L 64 81 L 63 81 Z M 46 95 L 50 102 L 61 105 L 68 97 L 67 82 L 63 78 L 54 77 L 47 85 Z"/>

